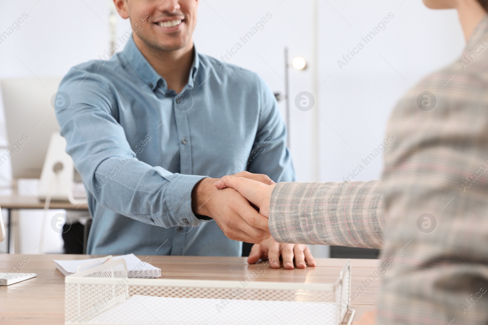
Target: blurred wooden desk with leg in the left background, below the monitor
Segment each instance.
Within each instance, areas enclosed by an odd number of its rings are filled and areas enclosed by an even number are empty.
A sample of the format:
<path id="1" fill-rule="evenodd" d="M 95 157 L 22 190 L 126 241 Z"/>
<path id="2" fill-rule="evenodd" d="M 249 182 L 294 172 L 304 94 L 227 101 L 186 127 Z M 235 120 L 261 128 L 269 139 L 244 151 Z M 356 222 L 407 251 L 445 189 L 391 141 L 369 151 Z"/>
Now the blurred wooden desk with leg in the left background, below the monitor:
<path id="1" fill-rule="evenodd" d="M 17 211 L 20 209 L 44 209 L 43 201 L 38 200 L 33 195 L 12 195 L 0 196 L 0 207 L 8 210 L 8 228 L 7 228 L 7 251 L 15 253 L 15 243 L 18 237 L 18 216 Z M 88 210 L 88 203 L 83 202 L 80 205 L 74 205 L 69 202 L 51 201 L 49 209 L 65 210 Z"/>

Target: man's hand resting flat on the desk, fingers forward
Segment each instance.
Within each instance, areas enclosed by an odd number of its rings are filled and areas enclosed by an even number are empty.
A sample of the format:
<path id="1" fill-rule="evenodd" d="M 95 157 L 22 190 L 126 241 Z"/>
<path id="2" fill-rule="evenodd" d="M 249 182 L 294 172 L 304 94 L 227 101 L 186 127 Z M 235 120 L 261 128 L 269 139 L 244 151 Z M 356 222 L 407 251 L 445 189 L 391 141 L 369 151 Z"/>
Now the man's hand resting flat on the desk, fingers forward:
<path id="1" fill-rule="evenodd" d="M 247 263 L 255 264 L 260 259 L 269 260 L 271 268 L 280 268 L 280 255 L 283 258 L 283 267 L 293 269 L 293 257 L 297 268 L 306 268 L 315 266 L 315 260 L 307 246 L 302 244 L 283 244 L 278 243 L 270 237 L 261 244 L 253 245 Z"/>

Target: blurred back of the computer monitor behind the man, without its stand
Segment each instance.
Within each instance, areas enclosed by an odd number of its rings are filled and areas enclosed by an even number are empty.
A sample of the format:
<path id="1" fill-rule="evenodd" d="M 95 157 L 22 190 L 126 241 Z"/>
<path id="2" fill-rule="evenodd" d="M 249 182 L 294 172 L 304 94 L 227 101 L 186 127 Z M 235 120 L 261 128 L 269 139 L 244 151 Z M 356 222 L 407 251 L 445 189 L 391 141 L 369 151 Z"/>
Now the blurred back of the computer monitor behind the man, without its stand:
<path id="1" fill-rule="evenodd" d="M 51 105 L 60 82 L 61 77 L 1 80 L 8 147 L 13 155 L 0 155 L 0 168 L 10 160 L 16 178 L 41 177 L 51 135 L 60 131 Z"/>

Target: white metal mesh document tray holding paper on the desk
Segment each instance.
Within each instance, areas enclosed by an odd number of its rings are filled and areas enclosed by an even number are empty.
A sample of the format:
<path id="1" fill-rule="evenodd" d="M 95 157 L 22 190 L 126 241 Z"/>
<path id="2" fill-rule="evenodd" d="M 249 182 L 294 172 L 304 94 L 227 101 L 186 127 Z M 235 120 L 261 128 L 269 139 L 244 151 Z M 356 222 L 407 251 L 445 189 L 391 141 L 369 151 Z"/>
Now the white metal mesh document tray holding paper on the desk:
<path id="1" fill-rule="evenodd" d="M 66 325 L 340 325 L 350 261 L 335 283 L 129 279 L 123 259 L 65 277 Z"/>

